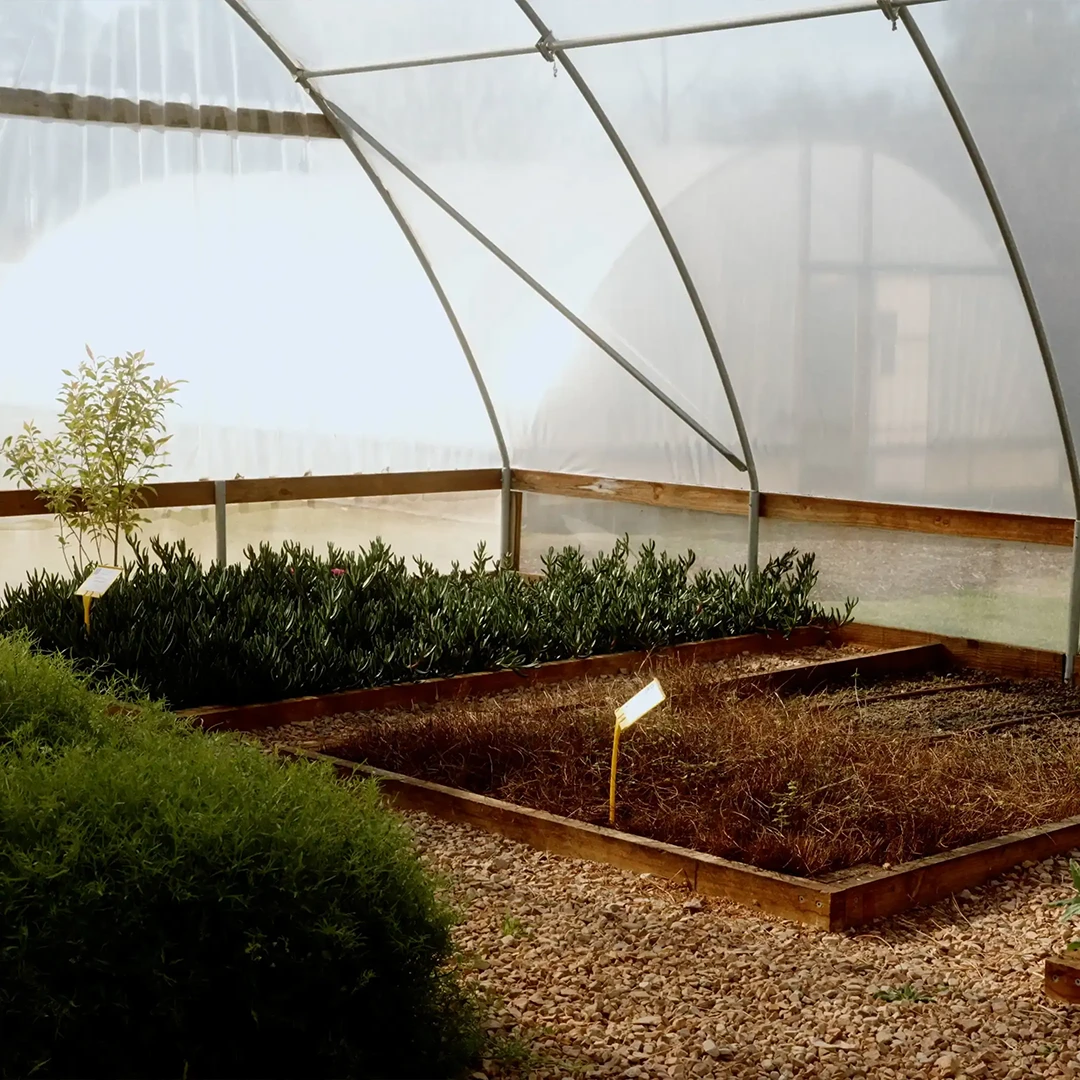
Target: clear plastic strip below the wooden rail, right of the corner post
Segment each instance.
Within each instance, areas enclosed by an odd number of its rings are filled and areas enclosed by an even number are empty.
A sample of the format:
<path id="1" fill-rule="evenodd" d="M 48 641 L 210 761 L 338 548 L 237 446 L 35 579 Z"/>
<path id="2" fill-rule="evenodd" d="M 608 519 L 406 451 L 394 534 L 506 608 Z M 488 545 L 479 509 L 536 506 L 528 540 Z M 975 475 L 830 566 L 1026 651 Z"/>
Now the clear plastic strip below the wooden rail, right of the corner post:
<path id="1" fill-rule="evenodd" d="M 728 570 L 745 559 L 743 518 L 537 495 L 525 503 L 522 569 L 541 572 L 554 546 L 586 556 L 623 536 L 631 549 L 692 551 L 696 567 Z M 796 549 L 818 556 L 815 599 L 843 610 L 858 597 L 860 622 L 1057 650 L 1065 625 L 1067 548 L 923 536 L 814 522 L 761 522 L 761 564 Z"/>

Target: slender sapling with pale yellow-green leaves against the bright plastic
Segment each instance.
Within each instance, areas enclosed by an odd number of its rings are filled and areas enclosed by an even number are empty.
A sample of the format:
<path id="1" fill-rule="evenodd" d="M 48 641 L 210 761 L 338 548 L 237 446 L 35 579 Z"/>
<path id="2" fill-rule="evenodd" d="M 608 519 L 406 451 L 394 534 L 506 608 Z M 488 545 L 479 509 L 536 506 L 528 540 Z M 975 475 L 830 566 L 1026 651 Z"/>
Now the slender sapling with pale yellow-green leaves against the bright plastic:
<path id="1" fill-rule="evenodd" d="M 65 370 L 57 434 L 33 421 L 0 445 L 4 475 L 41 492 L 56 515 L 64 558 L 72 571 L 120 562 L 120 541 L 140 525 L 149 486 L 165 467 L 165 408 L 179 382 L 150 374 L 145 353 L 95 356 Z"/>

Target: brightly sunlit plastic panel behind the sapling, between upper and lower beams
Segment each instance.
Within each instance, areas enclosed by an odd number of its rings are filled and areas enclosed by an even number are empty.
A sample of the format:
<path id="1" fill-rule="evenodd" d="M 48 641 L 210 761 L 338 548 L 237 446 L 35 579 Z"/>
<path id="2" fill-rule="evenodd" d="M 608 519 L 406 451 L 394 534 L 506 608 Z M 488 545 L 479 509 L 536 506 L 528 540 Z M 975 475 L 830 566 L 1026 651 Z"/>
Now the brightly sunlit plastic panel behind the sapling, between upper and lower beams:
<path id="1" fill-rule="evenodd" d="M 5 174 L 41 202 L 0 279 L 2 433 L 48 427 L 89 343 L 186 380 L 162 478 L 499 464 L 435 296 L 341 144 L 5 123 Z"/>

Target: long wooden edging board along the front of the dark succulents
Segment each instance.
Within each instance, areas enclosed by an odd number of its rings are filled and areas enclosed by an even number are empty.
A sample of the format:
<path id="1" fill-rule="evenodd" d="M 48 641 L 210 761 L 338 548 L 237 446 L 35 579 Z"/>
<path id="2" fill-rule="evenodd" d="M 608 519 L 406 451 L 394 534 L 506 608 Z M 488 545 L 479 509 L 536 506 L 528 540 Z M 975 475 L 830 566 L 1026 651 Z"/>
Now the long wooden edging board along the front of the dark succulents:
<path id="1" fill-rule="evenodd" d="M 565 683 L 579 678 L 598 678 L 633 672 L 670 660 L 676 663 L 710 663 L 741 653 L 787 652 L 820 645 L 825 632 L 815 626 L 793 631 L 789 637 L 779 634 L 746 634 L 713 642 L 676 645 L 652 652 L 613 652 L 578 660 L 554 660 L 519 671 L 476 672 L 449 678 L 400 683 L 394 686 L 341 693 L 313 694 L 286 701 L 261 702 L 253 705 L 225 705 L 186 708 L 186 716 L 205 728 L 228 731 L 259 731 L 285 724 L 311 720 L 336 713 L 367 712 L 377 708 L 405 708 L 416 704 L 449 701 L 481 694 L 517 690 L 530 684 Z"/>

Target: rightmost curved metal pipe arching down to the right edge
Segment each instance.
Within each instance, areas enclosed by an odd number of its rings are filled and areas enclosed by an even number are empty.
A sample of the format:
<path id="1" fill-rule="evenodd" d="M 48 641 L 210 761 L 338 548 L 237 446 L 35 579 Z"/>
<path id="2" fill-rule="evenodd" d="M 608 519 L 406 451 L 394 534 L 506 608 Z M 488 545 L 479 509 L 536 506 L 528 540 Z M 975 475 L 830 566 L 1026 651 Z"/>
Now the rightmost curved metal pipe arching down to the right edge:
<path id="1" fill-rule="evenodd" d="M 945 72 L 942 70 L 941 65 L 937 63 L 937 57 L 934 56 L 933 50 L 923 37 L 919 24 L 915 21 L 915 16 L 905 6 L 896 8 L 896 14 L 904 24 L 904 29 L 912 39 L 912 43 L 918 51 L 919 56 L 922 57 L 922 63 L 926 64 L 927 70 L 930 72 L 930 78 L 933 79 L 934 85 L 937 87 L 937 93 L 941 94 L 942 100 L 945 103 L 945 108 L 948 110 L 948 114 L 956 125 L 956 130 L 963 143 L 963 148 L 968 151 L 971 164 L 978 176 L 978 183 L 983 187 L 986 201 L 989 203 L 990 211 L 994 214 L 994 220 L 997 222 L 998 230 L 1001 233 L 1001 240 L 1005 245 L 1005 251 L 1009 253 L 1009 261 L 1012 264 L 1013 272 L 1016 274 L 1016 281 L 1024 297 L 1024 305 L 1031 321 L 1031 328 L 1035 330 L 1035 339 L 1039 346 L 1039 355 L 1042 357 L 1047 382 L 1050 384 L 1050 395 L 1054 402 L 1054 411 L 1057 414 L 1057 427 L 1065 447 L 1065 459 L 1069 467 L 1069 481 L 1072 485 L 1074 517 L 1077 518 L 1077 528 L 1074 531 L 1072 541 L 1072 580 L 1069 589 L 1068 637 L 1065 646 L 1065 680 L 1071 683 L 1077 646 L 1080 644 L 1080 464 L 1077 462 L 1076 443 L 1072 438 L 1072 427 L 1069 422 L 1068 409 L 1065 405 L 1065 394 L 1062 391 L 1062 383 L 1057 376 L 1057 365 L 1054 362 L 1054 353 L 1050 346 L 1050 339 L 1047 336 L 1047 327 L 1042 322 L 1042 313 L 1039 311 L 1039 302 L 1035 296 L 1035 289 L 1031 287 L 1031 280 L 1028 278 L 1027 268 L 1024 266 L 1024 259 L 1020 253 L 1012 226 L 1009 224 L 1009 217 L 1005 214 L 1001 199 L 998 197 L 997 188 L 994 186 L 994 178 L 990 176 L 986 160 L 983 158 L 975 136 L 968 124 L 963 110 L 960 108 L 960 103 L 953 93 L 953 87 L 949 86 L 948 80 L 945 78 Z"/>

